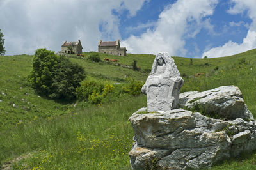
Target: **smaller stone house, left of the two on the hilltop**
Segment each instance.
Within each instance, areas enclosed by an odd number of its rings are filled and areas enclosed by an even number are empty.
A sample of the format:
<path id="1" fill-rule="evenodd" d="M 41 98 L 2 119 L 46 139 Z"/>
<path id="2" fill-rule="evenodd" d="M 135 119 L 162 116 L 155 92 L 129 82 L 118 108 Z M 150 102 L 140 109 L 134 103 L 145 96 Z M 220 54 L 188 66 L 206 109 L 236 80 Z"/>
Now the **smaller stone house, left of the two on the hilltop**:
<path id="1" fill-rule="evenodd" d="M 72 52 L 74 52 L 74 54 L 81 54 L 82 49 L 83 47 L 80 40 L 77 42 L 67 42 L 67 40 L 65 40 L 61 45 L 61 52 L 65 52 L 67 54 L 72 54 Z"/>

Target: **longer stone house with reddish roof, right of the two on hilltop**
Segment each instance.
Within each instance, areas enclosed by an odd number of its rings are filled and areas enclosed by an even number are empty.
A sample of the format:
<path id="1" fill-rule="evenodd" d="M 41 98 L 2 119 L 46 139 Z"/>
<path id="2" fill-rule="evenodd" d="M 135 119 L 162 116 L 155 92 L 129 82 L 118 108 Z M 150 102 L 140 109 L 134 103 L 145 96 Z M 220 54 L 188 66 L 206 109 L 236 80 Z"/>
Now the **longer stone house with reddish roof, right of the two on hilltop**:
<path id="1" fill-rule="evenodd" d="M 102 42 L 99 40 L 98 52 L 104 54 L 113 54 L 116 56 L 126 56 L 126 48 L 120 47 L 120 41 L 116 40 L 113 42 Z"/>

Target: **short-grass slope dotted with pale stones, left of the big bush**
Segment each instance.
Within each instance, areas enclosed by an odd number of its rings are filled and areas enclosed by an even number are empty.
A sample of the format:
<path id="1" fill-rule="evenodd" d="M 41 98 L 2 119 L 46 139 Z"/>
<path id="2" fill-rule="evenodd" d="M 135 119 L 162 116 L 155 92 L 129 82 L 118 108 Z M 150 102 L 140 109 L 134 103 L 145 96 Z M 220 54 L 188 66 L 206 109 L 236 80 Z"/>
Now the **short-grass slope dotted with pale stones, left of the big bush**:
<path id="1" fill-rule="evenodd" d="M 31 56 L 1 56 L 0 65 L 0 130 L 19 121 L 65 114 L 72 108 L 72 104 L 40 97 L 30 87 Z"/>

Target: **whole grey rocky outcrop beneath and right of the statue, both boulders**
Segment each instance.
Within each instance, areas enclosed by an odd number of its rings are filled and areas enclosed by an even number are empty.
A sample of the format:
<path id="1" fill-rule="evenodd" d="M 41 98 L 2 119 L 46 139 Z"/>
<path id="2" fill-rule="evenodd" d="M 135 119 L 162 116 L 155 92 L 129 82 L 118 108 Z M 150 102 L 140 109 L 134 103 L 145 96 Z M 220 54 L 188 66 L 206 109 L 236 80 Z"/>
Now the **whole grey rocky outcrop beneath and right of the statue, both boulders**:
<path id="1" fill-rule="evenodd" d="M 256 121 L 239 88 L 190 91 L 179 100 L 180 107 L 191 111 L 148 113 L 143 107 L 129 118 L 132 169 L 200 169 L 256 149 Z"/>

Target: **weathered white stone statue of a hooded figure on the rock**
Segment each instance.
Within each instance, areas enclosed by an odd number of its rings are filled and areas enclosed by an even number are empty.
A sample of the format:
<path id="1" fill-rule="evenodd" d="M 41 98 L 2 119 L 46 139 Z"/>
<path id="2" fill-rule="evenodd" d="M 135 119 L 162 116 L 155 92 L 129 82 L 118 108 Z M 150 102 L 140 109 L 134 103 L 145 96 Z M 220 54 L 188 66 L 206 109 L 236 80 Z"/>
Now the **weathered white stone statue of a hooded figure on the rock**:
<path id="1" fill-rule="evenodd" d="M 179 107 L 180 72 L 168 52 L 156 55 L 152 70 L 141 91 L 147 95 L 148 112 L 168 111 Z"/>

